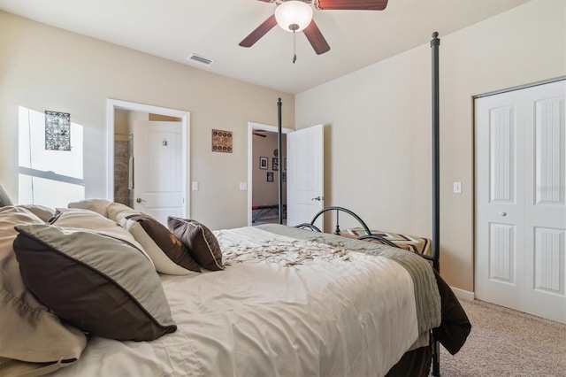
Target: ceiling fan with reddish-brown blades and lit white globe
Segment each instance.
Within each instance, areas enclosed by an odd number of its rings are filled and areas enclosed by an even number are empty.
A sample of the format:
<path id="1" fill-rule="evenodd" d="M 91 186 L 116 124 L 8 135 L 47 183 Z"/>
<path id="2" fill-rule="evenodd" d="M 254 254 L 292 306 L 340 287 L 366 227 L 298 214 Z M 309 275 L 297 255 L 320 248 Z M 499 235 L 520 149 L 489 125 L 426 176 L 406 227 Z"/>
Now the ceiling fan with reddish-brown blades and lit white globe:
<path id="1" fill-rule="evenodd" d="M 264 20 L 259 27 L 251 32 L 243 41 L 241 47 L 251 47 L 261 37 L 267 34 L 275 25 L 295 34 L 303 31 L 317 55 L 330 50 L 328 42 L 312 19 L 313 8 L 317 10 L 351 10 L 351 11 L 383 11 L 388 0 L 257 0 L 263 3 L 275 3 L 275 13 Z M 293 58 L 293 63 L 296 55 Z"/>

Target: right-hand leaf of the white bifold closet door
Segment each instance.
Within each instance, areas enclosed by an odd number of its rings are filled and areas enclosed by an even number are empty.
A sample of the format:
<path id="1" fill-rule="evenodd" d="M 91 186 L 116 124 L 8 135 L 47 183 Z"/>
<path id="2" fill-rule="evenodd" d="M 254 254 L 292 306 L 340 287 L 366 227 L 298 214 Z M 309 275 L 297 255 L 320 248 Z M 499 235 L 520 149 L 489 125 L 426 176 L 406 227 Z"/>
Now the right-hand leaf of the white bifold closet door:
<path id="1" fill-rule="evenodd" d="M 566 323 L 566 81 L 533 88 L 525 143 L 524 299 L 533 314 Z"/>

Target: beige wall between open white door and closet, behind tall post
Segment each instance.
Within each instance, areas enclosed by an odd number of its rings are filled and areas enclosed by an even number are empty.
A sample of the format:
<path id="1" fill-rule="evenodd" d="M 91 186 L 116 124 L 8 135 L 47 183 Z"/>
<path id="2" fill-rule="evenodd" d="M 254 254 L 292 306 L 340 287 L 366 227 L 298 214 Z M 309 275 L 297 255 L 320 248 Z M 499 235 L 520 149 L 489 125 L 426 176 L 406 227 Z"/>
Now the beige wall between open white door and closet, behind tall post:
<path id="1" fill-rule="evenodd" d="M 472 97 L 566 75 L 566 2 L 535 0 L 440 39 L 440 268 L 473 291 Z M 295 113 L 297 128 L 328 126 L 325 204 L 430 237 L 429 42 L 296 96 Z"/>

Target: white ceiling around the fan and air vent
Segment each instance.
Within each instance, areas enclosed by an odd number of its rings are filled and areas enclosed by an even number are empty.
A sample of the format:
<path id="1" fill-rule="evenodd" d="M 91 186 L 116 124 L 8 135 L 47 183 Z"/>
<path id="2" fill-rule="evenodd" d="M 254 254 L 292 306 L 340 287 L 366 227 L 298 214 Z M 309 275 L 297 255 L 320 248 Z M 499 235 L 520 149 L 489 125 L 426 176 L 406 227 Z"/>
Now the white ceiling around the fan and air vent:
<path id="1" fill-rule="evenodd" d="M 389 0 L 385 11 L 317 11 L 331 50 L 274 27 L 249 49 L 241 40 L 275 4 L 256 0 L 0 0 L 0 10 L 157 57 L 297 94 L 428 43 L 530 0 Z M 195 53 L 210 67 L 187 62 Z"/>

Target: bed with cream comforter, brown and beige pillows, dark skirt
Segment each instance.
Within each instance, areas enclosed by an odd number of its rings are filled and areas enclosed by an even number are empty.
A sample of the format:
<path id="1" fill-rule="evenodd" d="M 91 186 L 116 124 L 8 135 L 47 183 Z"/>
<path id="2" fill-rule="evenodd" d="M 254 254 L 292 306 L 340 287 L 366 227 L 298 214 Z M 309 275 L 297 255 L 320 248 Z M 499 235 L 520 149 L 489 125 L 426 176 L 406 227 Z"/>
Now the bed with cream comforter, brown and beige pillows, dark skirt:
<path id="1" fill-rule="evenodd" d="M 0 208 L 3 375 L 418 376 L 432 329 L 453 352 L 470 331 L 408 250 L 69 207 Z"/>

